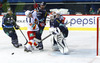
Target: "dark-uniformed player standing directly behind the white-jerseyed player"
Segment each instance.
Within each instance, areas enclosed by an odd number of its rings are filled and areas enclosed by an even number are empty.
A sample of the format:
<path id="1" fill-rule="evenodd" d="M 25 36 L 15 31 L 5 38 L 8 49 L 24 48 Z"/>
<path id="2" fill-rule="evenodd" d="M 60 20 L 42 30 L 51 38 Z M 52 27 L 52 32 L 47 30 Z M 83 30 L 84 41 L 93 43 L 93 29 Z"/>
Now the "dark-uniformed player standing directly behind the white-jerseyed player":
<path id="1" fill-rule="evenodd" d="M 38 14 L 37 14 L 37 17 L 39 19 L 39 25 L 38 25 L 39 31 L 36 33 L 36 38 L 39 40 L 41 40 L 41 35 L 42 35 L 43 29 L 46 25 L 47 11 L 45 10 L 45 6 L 46 6 L 45 2 L 40 3 L 40 7 L 38 10 Z M 38 42 L 37 48 L 39 48 L 39 50 L 43 50 L 42 42 Z"/>

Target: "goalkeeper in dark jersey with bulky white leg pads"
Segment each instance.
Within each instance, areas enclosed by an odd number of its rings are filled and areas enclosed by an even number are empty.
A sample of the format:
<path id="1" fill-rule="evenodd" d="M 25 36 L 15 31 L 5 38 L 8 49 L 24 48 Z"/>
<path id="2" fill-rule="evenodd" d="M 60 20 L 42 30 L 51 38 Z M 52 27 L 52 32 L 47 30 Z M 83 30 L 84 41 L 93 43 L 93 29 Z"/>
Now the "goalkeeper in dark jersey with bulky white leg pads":
<path id="1" fill-rule="evenodd" d="M 56 13 L 56 18 L 51 22 L 50 20 L 50 33 L 53 34 L 53 49 L 60 50 L 61 53 L 68 53 L 65 38 L 68 36 L 68 29 L 63 23 L 60 13 Z"/>

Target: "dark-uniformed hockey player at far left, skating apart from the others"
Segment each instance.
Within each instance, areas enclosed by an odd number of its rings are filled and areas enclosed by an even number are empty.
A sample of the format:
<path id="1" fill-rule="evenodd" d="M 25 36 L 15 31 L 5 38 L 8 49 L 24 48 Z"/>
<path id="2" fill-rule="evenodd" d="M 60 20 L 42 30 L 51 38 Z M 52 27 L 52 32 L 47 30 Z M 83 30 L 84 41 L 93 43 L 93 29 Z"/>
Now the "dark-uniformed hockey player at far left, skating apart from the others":
<path id="1" fill-rule="evenodd" d="M 7 14 L 3 16 L 2 28 L 3 31 L 9 37 L 11 37 L 11 41 L 14 47 L 18 48 L 19 46 L 22 46 L 22 44 L 18 43 L 18 37 L 15 32 L 15 29 L 19 29 L 19 26 L 16 24 L 16 15 L 13 14 L 11 10 L 8 10 Z"/>

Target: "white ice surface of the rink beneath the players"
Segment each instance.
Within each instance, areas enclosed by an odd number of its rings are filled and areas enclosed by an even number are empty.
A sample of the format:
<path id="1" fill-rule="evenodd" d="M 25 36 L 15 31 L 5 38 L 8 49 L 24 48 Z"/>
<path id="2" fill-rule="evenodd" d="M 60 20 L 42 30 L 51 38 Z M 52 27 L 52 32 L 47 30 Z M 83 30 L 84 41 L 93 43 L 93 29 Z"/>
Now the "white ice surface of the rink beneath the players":
<path id="1" fill-rule="evenodd" d="M 24 44 L 26 41 L 19 30 L 17 34 L 19 42 Z M 42 37 L 48 34 L 44 31 Z M 69 31 L 66 42 L 70 49 L 68 55 L 53 51 L 50 38 L 43 42 L 44 51 L 27 53 L 24 46 L 14 48 L 10 38 L 0 30 L 0 63 L 100 63 L 100 57 L 96 57 L 96 31 Z"/>

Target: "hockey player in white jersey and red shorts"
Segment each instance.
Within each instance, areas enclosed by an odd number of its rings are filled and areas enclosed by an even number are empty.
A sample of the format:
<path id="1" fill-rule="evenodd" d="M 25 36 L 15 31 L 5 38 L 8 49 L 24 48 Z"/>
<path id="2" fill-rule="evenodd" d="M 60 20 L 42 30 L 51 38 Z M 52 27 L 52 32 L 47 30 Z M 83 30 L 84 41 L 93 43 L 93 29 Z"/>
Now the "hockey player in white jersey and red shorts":
<path id="1" fill-rule="evenodd" d="M 38 44 L 33 39 L 36 37 L 36 31 L 39 30 L 38 27 L 38 19 L 36 15 L 36 11 L 33 13 L 31 11 L 26 11 L 26 23 L 27 23 L 27 35 L 29 38 L 29 42 L 25 45 L 24 51 L 31 52 L 34 47 L 36 47 Z"/>

